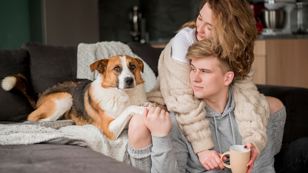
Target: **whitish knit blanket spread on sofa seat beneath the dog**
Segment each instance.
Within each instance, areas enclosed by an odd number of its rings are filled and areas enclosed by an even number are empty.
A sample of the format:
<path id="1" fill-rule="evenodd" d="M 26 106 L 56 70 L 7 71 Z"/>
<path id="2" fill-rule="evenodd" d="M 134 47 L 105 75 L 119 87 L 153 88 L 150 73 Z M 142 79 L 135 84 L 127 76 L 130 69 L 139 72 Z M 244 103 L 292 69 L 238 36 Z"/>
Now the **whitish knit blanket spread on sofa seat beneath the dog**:
<path id="1" fill-rule="evenodd" d="M 111 141 L 97 127 L 74 125 L 73 120 L 0 124 L 1 145 L 38 143 L 79 145 L 130 164 L 127 130 L 117 140 Z"/>

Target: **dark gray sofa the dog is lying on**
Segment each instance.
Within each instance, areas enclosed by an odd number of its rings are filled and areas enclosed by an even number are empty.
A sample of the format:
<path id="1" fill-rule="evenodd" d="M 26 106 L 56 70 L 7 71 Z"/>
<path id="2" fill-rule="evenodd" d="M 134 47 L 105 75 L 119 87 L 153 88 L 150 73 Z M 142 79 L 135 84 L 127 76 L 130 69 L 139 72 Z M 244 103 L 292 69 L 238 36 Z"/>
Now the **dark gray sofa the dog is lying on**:
<path id="1" fill-rule="evenodd" d="M 157 75 L 157 61 L 162 48 L 138 42 L 126 43 Z M 30 81 L 33 92 L 40 93 L 63 80 L 77 77 L 77 46 L 45 45 L 26 42 L 17 50 L 0 51 L 0 80 L 21 73 Z M 92 62 L 89 62 L 89 64 Z M 282 147 L 308 136 L 308 88 L 257 85 L 267 96 L 280 99 L 286 107 Z M 33 111 L 27 98 L 18 90 L 0 89 L 0 124 L 22 123 Z M 0 145 L 0 172 L 40 173 L 141 173 L 87 147 L 73 144 Z"/>

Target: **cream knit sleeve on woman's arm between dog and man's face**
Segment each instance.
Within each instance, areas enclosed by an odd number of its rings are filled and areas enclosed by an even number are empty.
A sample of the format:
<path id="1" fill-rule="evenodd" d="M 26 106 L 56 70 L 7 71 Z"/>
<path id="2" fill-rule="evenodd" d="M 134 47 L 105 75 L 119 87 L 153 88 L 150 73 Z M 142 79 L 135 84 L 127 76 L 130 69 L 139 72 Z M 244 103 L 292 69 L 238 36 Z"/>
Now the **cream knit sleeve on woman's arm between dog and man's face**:
<path id="1" fill-rule="evenodd" d="M 189 80 L 190 64 L 171 57 L 171 43 L 172 40 L 158 61 L 161 95 L 168 111 L 177 113 L 178 123 L 195 153 L 211 149 L 214 144 L 209 121 L 205 118 L 205 102 L 193 95 Z"/>

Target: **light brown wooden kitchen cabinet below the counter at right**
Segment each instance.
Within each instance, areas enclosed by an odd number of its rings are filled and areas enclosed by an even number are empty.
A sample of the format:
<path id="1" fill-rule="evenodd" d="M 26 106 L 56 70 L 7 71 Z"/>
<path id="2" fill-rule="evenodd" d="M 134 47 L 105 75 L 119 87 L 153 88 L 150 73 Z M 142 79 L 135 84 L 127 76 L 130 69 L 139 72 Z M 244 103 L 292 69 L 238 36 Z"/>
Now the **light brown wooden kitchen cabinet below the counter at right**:
<path id="1" fill-rule="evenodd" d="M 256 40 L 256 84 L 308 88 L 308 39 Z"/>

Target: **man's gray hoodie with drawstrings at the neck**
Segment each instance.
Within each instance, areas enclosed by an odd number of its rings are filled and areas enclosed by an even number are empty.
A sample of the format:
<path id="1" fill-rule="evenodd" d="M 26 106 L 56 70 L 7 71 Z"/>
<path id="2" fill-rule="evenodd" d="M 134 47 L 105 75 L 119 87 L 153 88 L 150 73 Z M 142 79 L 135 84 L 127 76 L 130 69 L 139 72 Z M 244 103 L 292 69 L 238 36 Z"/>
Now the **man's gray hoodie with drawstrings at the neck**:
<path id="1" fill-rule="evenodd" d="M 238 125 L 233 115 L 235 102 L 232 99 L 232 92 L 229 90 L 229 100 L 222 114 L 214 112 L 206 107 L 207 116 L 210 120 L 210 130 L 216 150 L 223 153 L 229 150 L 234 144 L 242 144 L 242 137 L 239 134 Z M 176 116 L 170 113 L 172 119 L 171 131 L 164 137 L 152 136 L 152 168 L 151 173 L 231 173 L 231 170 L 207 171 L 199 162 L 197 154 L 194 153 L 191 144 L 185 138 Z M 267 127 L 268 143 L 254 163 L 252 173 L 275 173 L 274 170 L 274 136 L 272 116 L 269 118 Z M 140 150 L 139 150 L 140 152 Z M 149 156 L 150 157 L 150 156 Z M 134 158 L 131 158 L 134 160 Z M 137 165 L 134 165 L 138 167 Z"/>

